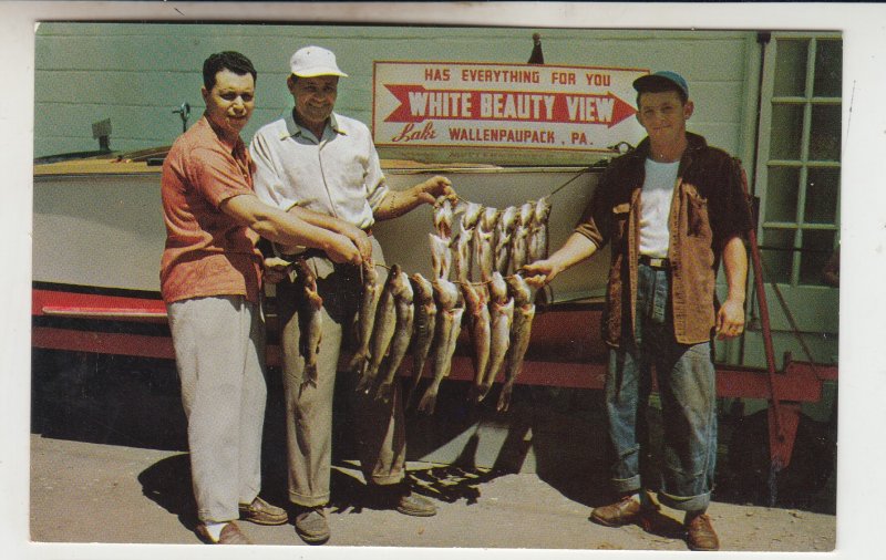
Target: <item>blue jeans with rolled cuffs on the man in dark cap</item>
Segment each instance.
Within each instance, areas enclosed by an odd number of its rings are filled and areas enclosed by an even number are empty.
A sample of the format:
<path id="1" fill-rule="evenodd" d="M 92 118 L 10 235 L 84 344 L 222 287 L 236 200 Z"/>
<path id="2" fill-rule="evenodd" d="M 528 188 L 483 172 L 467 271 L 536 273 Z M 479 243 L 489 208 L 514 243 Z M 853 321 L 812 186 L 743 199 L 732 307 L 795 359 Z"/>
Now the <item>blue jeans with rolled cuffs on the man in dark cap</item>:
<path id="1" fill-rule="evenodd" d="M 641 480 L 648 455 L 646 409 L 656 369 L 662 407 L 663 465 L 658 494 L 666 506 L 704 510 L 717 459 L 717 386 L 711 343 L 679 344 L 670 313 L 669 271 L 639 266 L 633 336 L 610 350 L 606 377 L 609 438 L 620 494 L 649 487 Z M 630 325 L 627 325 L 630 329 Z"/>

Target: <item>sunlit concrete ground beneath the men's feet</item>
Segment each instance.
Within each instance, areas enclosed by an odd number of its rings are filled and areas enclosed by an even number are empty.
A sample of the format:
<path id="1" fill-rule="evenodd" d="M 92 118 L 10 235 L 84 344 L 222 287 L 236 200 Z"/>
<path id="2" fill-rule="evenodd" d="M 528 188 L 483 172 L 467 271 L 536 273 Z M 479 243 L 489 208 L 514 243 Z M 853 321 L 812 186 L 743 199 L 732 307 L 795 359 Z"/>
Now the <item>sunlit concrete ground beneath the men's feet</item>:
<path id="1" fill-rule="evenodd" d="M 350 467 L 350 468 L 349 468 Z M 410 464 L 420 491 L 439 515 L 410 518 L 363 508 L 359 497 L 329 510 L 336 547 L 464 547 L 684 551 L 679 523 L 655 532 L 588 521 L 589 508 L 536 475 L 463 473 Z M 31 539 L 39 542 L 181 543 L 199 546 L 189 504 L 187 455 L 31 436 Z M 359 496 L 361 476 L 337 467 L 338 495 Z M 433 490 L 433 488 L 442 490 Z M 356 491 L 354 491 L 356 490 Z M 724 550 L 831 551 L 835 517 L 795 509 L 714 502 L 710 510 Z M 679 514 L 663 510 L 680 519 Z M 257 545 L 305 547 L 291 525 L 243 523 Z"/>

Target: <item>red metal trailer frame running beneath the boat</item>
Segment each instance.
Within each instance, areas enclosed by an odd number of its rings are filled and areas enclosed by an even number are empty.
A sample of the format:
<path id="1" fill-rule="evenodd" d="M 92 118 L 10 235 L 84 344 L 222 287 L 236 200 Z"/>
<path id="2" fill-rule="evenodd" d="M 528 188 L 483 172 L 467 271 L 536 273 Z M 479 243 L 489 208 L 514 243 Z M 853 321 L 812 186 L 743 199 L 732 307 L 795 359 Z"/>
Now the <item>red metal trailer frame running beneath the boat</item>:
<path id="1" fill-rule="evenodd" d="M 754 251 L 752 251 L 753 253 Z M 759 259 L 759 253 L 756 255 Z M 756 265 L 755 265 L 756 267 Z M 762 282 L 762 278 L 760 280 Z M 763 290 L 758 287 L 763 299 Z M 151 298 L 126 295 L 102 295 L 75 293 L 63 290 L 34 289 L 32 317 L 71 318 L 140 323 L 166 323 L 163 301 Z M 718 366 L 717 393 L 721 397 L 766 398 L 770 401 L 770 458 L 776 469 L 787 467 L 793 453 L 801 403 L 814 403 L 822 398 L 826 381 L 837 378 L 836 366 L 808 362 L 794 362 L 785 356 L 782 372 L 774 367 L 771 355 L 769 314 L 761 304 L 764 340 L 767 344 L 769 371 L 750 367 Z M 574 309 L 542 309 L 533 324 L 533 339 L 524 362 L 518 383 L 527 385 L 560 386 L 600 390 L 606 377 L 607 350 L 601 342 L 600 309 L 576 307 Z M 269 329 L 275 329 L 276 318 L 268 318 Z M 466 336 L 466 335 L 465 335 Z M 463 336 L 464 338 L 464 336 Z M 466 349 L 466 338 L 461 349 Z M 134 334 L 123 332 L 99 332 L 69 326 L 34 324 L 32 346 L 103 354 L 120 354 L 174 360 L 172 339 L 168 335 Z M 347 356 L 342 356 L 344 361 Z M 276 344 L 267 348 L 267 362 L 280 364 L 280 349 Z M 411 374 L 411 363 L 405 360 L 403 375 Z M 427 374 L 427 372 L 425 372 Z M 453 360 L 452 380 L 473 378 L 473 365 L 467 351 L 456 353 Z M 501 376 L 496 381 L 504 381 Z"/>

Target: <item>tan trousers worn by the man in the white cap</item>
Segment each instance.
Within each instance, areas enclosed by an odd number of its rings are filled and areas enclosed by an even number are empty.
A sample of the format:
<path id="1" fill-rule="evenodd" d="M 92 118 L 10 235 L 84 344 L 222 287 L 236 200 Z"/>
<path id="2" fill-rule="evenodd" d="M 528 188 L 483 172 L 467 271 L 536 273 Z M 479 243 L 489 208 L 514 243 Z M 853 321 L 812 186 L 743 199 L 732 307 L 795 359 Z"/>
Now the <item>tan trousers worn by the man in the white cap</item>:
<path id="1" fill-rule="evenodd" d="M 373 261 L 383 263 L 381 247 L 372 239 Z M 329 501 L 332 467 L 332 395 L 339 355 L 344 344 L 353 346 L 353 321 L 359 309 L 360 276 L 352 266 L 334 265 L 323 257 L 308 259 L 317 276 L 323 299 L 322 340 L 317 359 L 318 382 L 302 385 L 305 360 L 299 353 L 297 284 L 277 284 L 277 305 L 282 331 L 280 345 L 286 392 L 287 444 L 289 456 L 289 499 L 299 506 L 322 506 Z M 387 270 L 379 268 L 380 281 Z M 348 375 L 351 375 L 348 373 Z M 349 380 L 353 381 L 353 380 Z M 399 387 L 389 403 L 374 394 L 353 391 L 348 385 L 354 417 L 344 429 L 353 429 L 363 476 L 379 485 L 403 479 L 406 454 L 403 407 Z"/>

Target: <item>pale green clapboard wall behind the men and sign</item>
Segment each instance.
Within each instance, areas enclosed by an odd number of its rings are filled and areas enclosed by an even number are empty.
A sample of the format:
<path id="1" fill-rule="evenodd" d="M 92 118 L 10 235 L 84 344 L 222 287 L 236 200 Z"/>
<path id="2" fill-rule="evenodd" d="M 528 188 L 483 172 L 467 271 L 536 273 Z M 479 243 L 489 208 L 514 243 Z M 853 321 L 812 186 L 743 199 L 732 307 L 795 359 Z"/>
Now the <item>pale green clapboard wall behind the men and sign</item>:
<path id="1" fill-rule="evenodd" d="M 291 106 L 285 81 L 289 56 L 300 46 L 318 44 L 337 53 L 350 74 L 340 85 L 337 111 L 370 124 L 373 61 L 525 63 L 536 31 L 549 64 L 682 73 L 697 104 L 690 129 L 750 160 L 759 72 L 753 32 L 81 22 L 44 22 L 37 29 L 34 156 L 96 149 L 92 124 L 106 118 L 112 149 L 171 144 L 182 132 L 173 111 L 187 102 L 188 124 L 199 117 L 203 61 L 222 50 L 243 52 L 258 71 L 256 112 L 244 132 L 248 141 Z M 395 148 L 381 155 L 403 156 Z M 460 156 L 515 163 L 477 151 Z M 451 157 L 433 149 L 422 155 L 429 162 Z M 522 163 L 576 163 L 568 160 L 575 155 L 521 157 Z"/>

